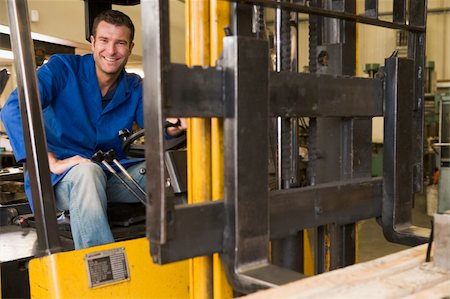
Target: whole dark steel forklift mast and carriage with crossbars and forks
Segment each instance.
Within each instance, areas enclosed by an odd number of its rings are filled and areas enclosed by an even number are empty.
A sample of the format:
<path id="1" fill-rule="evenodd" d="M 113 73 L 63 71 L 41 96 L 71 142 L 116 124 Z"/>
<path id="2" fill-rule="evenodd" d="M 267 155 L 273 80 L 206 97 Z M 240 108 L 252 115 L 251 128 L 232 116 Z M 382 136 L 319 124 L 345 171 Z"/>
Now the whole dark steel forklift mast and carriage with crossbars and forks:
<path id="1" fill-rule="evenodd" d="M 219 252 L 233 289 L 246 293 L 303 277 L 270 262 L 269 242 L 308 228 L 317 236 L 316 273 L 355 263 L 354 223 L 363 219 L 378 218 L 391 242 L 426 242 L 430 231 L 411 224 L 413 195 L 423 180 L 426 1 L 393 1 L 392 22 L 378 19 L 378 1 L 366 1 L 363 15 L 354 1 L 233 2 L 222 59 L 206 68 L 170 63 L 169 4 L 141 3 L 145 130 L 152 140 L 146 157 L 153 174 L 147 230 L 154 261 Z M 310 15 L 309 73 L 291 72 L 283 63 L 271 69 L 269 42 L 249 27 L 252 5 Z M 407 31 L 408 57 L 386 58 L 375 78 L 355 77 L 356 23 Z M 384 163 L 383 176 L 373 178 L 376 116 L 384 117 Z M 168 203 L 165 117 L 223 119 L 223 200 Z M 269 120 L 300 117 L 310 118 L 309 186 L 290 186 L 282 173 L 283 188 L 269 192 Z"/>

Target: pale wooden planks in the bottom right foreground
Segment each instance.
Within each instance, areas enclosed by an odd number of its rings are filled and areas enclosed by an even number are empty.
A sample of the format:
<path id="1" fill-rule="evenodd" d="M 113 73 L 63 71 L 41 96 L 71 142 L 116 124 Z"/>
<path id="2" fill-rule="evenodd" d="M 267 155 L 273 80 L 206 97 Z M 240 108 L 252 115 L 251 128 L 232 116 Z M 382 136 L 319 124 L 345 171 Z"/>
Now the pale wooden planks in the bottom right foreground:
<path id="1" fill-rule="evenodd" d="M 434 267 L 432 263 L 425 263 L 426 248 L 426 244 L 421 245 L 373 261 L 257 292 L 247 297 L 251 299 L 310 299 L 411 296 L 414 293 L 434 289 L 450 279 L 449 272 Z M 446 287 L 447 285 L 442 286 L 441 293 L 446 292 Z M 450 294 L 450 291 L 445 294 Z"/>

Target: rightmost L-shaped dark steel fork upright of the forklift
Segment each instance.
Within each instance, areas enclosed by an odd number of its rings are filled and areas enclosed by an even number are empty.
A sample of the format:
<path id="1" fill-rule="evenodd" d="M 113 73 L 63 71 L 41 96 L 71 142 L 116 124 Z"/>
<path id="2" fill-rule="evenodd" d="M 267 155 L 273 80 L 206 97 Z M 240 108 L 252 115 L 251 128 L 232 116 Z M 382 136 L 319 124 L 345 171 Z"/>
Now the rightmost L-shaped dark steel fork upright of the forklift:
<path id="1" fill-rule="evenodd" d="M 420 134 L 414 126 L 415 78 L 411 77 L 414 62 L 391 57 L 385 60 L 385 70 L 383 233 L 391 242 L 416 246 L 426 242 L 429 231 L 411 225 L 415 174 L 413 149 L 416 134 Z"/>

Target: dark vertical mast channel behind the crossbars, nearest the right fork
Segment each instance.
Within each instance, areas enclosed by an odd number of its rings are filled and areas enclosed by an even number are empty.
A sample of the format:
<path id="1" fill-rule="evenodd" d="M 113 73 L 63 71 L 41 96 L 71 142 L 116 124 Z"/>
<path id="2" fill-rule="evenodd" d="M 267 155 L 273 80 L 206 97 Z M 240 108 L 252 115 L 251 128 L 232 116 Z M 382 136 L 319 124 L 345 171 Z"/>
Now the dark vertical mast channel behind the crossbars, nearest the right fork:
<path id="1" fill-rule="evenodd" d="M 324 1 L 323 6 L 338 11 L 356 12 L 354 1 Z M 322 34 L 323 45 L 317 48 L 318 53 L 316 53 L 318 72 L 353 76 L 356 62 L 355 23 L 325 19 L 323 26 L 326 28 Z M 327 57 L 327 60 L 319 61 L 319 56 Z M 367 133 L 371 131 L 369 122 L 370 119 L 324 118 L 312 122 L 313 128 L 316 128 L 315 138 L 317 138 L 317 152 L 319 153 L 319 155 L 313 153 L 313 183 L 370 175 L 370 164 L 359 163 L 360 159 L 354 157 L 359 153 L 356 149 L 361 145 L 364 145 L 364 148 L 370 148 L 370 135 Z M 362 161 L 370 161 L 370 152 L 360 154 Z M 354 224 L 346 226 L 330 224 L 318 228 L 317 273 L 354 263 L 355 240 L 354 237 L 351 237 L 354 236 L 354 230 Z"/>

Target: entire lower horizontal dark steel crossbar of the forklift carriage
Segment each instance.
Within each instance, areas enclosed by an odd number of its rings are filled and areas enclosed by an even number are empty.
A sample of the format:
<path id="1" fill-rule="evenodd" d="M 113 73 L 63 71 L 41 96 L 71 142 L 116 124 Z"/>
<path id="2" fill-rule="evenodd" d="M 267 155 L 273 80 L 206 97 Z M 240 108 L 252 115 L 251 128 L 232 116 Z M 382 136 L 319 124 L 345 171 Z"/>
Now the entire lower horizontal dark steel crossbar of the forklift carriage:
<path id="1" fill-rule="evenodd" d="M 382 197 L 381 178 L 272 191 L 270 239 L 326 223 L 348 224 L 379 217 Z M 172 238 L 161 246 L 161 258 L 155 262 L 166 264 L 222 252 L 224 218 L 223 200 L 176 206 L 170 214 Z"/>

